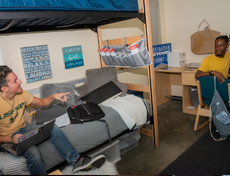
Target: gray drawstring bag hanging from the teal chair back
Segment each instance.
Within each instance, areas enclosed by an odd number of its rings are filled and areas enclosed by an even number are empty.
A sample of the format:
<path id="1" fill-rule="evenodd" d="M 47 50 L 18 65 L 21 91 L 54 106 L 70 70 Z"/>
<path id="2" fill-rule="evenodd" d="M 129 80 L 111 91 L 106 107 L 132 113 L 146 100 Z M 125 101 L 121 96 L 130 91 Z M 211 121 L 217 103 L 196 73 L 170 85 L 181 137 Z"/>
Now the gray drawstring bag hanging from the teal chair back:
<path id="1" fill-rule="evenodd" d="M 211 107 L 211 117 L 210 117 L 210 123 L 209 123 L 209 130 L 212 138 L 215 141 L 222 141 L 229 137 L 230 135 L 230 113 L 221 98 L 219 92 L 216 90 L 216 79 L 214 77 L 214 86 L 215 86 L 215 92 L 212 98 L 212 102 L 210 104 Z M 213 120 L 213 123 L 215 124 L 216 129 L 218 130 L 218 133 L 221 135 L 219 139 L 215 139 L 212 135 L 211 131 L 211 122 Z"/>

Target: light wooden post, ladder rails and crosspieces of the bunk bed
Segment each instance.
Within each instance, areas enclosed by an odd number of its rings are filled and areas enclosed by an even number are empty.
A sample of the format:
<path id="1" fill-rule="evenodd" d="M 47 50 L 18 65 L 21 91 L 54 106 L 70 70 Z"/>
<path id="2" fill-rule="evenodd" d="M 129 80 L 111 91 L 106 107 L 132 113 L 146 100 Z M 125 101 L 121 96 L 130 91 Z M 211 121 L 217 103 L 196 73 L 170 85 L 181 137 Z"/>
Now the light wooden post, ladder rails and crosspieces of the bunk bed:
<path id="1" fill-rule="evenodd" d="M 149 0 L 143 0 L 142 1 L 142 9 L 139 11 L 139 13 L 144 12 L 145 14 L 145 35 L 143 36 L 146 38 L 147 41 L 147 47 L 150 54 L 150 58 L 153 61 L 153 49 L 152 49 L 152 34 L 151 34 L 151 22 L 150 22 L 150 10 L 149 10 Z M 102 40 L 102 32 L 101 27 L 97 27 L 98 31 L 98 42 L 99 47 L 102 48 L 103 45 L 106 45 L 106 41 Z M 147 36 L 147 37 L 146 37 Z M 127 37 L 125 38 L 125 44 L 130 45 L 138 40 L 141 39 L 141 36 L 135 36 L 135 37 Z M 112 39 L 107 40 L 108 45 L 123 45 L 123 38 L 119 39 Z M 100 57 L 100 63 L 101 67 L 106 67 L 104 61 Z M 159 146 L 159 136 L 158 136 L 158 118 L 157 118 L 157 103 L 156 103 L 156 88 L 155 88 L 155 73 L 154 73 L 154 65 L 145 66 L 142 68 L 146 68 L 148 72 L 148 85 L 140 85 L 140 84 L 129 84 L 126 83 L 128 86 L 128 90 L 134 90 L 134 91 L 141 91 L 141 92 L 147 92 L 149 93 L 149 100 L 150 100 L 150 107 L 151 107 L 151 113 L 150 115 L 153 116 L 153 124 L 152 129 L 145 129 L 142 128 L 141 133 L 144 135 L 147 135 L 149 137 L 153 138 L 153 146 L 158 147 Z"/>

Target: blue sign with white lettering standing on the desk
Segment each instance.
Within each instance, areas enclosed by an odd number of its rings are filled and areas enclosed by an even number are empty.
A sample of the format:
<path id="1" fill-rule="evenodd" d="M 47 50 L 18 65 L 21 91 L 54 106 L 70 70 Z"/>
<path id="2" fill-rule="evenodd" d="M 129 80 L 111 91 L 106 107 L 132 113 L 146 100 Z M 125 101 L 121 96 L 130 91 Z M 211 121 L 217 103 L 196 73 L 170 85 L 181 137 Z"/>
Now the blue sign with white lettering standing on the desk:
<path id="1" fill-rule="evenodd" d="M 168 66 L 167 53 L 172 52 L 171 43 L 153 45 L 154 68 Z"/>

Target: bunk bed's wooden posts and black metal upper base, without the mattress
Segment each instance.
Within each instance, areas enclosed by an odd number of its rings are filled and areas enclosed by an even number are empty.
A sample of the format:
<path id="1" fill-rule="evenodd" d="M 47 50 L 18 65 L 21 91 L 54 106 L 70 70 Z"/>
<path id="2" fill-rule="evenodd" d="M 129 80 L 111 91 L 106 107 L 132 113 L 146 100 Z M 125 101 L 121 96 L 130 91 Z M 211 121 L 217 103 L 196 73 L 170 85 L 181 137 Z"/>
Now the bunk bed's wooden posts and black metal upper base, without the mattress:
<path id="1" fill-rule="evenodd" d="M 55 31 L 66 29 L 90 28 L 98 33 L 99 47 L 105 45 L 102 41 L 101 27 L 113 22 L 138 18 L 145 26 L 145 36 L 150 57 L 153 62 L 152 35 L 150 24 L 149 0 L 142 0 L 142 9 L 136 12 L 95 12 L 95 11 L 59 11 L 59 10 L 12 10 L 0 11 L 0 34 Z M 140 40 L 138 37 L 126 38 L 126 44 L 132 44 Z M 108 44 L 122 45 L 123 39 L 109 40 Z M 104 67 L 102 59 L 101 67 Z M 142 134 L 152 137 L 153 146 L 159 146 L 158 118 L 156 103 L 156 88 L 154 66 L 145 66 L 148 71 L 148 85 L 127 84 L 129 90 L 148 92 L 150 97 L 151 115 L 153 116 L 152 129 L 142 129 Z"/>

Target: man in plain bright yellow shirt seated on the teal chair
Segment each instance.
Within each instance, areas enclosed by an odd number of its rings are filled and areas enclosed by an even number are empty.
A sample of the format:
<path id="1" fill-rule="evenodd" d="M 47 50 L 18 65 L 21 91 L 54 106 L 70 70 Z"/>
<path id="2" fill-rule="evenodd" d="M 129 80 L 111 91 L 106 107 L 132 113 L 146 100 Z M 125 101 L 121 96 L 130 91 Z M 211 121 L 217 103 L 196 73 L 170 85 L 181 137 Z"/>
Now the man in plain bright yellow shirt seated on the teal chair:
<path id="1" fill-rule="evenodd" d="M 230 72 L 230 53 L 226 52 L 229 47 L 227 35 L 221 35 L 215 40 L 215 53 L 204 58 L 198 68 L 195 78 L 214 75 L 219 82 L 228 78 Z"/>

